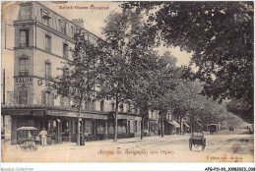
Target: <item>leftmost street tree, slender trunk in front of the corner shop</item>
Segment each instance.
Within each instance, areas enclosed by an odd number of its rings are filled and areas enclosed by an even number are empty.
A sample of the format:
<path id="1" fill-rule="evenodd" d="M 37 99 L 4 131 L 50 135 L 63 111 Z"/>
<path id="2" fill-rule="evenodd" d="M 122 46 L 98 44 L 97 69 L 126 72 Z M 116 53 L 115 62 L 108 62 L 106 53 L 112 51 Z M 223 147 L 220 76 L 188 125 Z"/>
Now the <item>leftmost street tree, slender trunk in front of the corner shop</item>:
<path id="1" fill-rule="evenodd" d="M 61 75 L 54 79 L 53 87 L 57 94 L 66 96 L 74 103 L 73 107 L 78 110 L 78 134 L 77 144 L 80 145 L 80 137 L 83 129 L 82 103 L 94 93 L 96 86 L 96 62 L 101 56 L 99 49 L 85 36 L 76 34 L 75 48 L 73 49 L 73 59 L 63 62 L 63 66 L 58 68 Z M 83 141 L 83 140 L 82 140 Z"/>

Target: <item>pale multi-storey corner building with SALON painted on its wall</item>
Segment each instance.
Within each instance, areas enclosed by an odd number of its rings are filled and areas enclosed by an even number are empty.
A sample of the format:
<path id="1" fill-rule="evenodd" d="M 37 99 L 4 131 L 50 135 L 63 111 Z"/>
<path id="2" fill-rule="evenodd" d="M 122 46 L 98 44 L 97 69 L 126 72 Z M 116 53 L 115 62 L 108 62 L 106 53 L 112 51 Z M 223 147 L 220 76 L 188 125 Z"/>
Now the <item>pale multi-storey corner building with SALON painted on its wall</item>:
<path id="1" fill-rule="evenodd" d="M 61 62 L 72 60 L 74 35 L 78 31 L 96 45 L 98 38 L 84 29 L 81 19 L 68 20 L 38 2 L 20 4 L 15 27 L 14 103 L 2 105 L 2 115 L 12 118 L 11 143 L 18 143 L 26 133 L 17 132 L 23 126 L 45 128 L 48 140 L 55 143 L 76 142 L 78 111 L 68 97 L 58 96 L 49 89 L 50 79 L 61 75 Z M 88 99 L 83 104 L 83 134 L 87 139 L 107 139 L 113 136 L 114 100 Z M 139 136 L 141 117 L 130 101 L 119 107 L 118 135 Z"/>

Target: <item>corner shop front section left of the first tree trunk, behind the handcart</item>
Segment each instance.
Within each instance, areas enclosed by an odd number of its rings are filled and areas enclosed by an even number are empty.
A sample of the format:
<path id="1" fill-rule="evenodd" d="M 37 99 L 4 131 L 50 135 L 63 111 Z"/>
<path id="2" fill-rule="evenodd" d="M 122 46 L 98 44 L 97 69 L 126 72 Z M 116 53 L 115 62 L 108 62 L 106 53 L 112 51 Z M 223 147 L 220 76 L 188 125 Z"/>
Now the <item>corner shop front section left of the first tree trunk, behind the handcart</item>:
<path id="1" fill-rule="evenodd" d="M 51 116 L 43 109 L 4 109 L 2 114 L 11 116 L 11 143 L 20 143 L 25 139 L 26 131 L 17 132 L 21 127 L 34 127 L 32 138 L 40 143 L 38 133 L 44 128 L 47 132 L 47 143 L 62 143 L 72 141 L 71 126 L 75 118 Z"/>

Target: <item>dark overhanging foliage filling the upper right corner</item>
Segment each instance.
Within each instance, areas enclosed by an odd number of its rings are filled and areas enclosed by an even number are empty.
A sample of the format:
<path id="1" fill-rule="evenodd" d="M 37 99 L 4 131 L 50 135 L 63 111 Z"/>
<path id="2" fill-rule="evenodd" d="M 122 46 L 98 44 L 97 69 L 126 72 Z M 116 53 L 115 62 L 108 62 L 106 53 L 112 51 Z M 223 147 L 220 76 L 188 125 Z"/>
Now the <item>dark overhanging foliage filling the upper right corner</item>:
<path id="1" fill-rule="evenodd" d="M 146 14 L 165 45 L 193 51 L 203 93 L 244 102 L 233 112 L 253 121 L 253 2 L 125 2 L 122 8 Z"/>

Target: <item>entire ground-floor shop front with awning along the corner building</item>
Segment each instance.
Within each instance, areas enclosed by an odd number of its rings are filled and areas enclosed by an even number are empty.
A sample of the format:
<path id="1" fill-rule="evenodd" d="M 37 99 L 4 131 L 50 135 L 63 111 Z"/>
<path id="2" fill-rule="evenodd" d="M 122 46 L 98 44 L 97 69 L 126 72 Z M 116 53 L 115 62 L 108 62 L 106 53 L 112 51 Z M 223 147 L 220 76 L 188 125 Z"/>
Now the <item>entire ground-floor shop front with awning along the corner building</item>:
<path id="1" fill-rule="evenodd" d="M 85 142 L 113 139 L 114 121 L 103 112 L 82 112 L 82 121 L 78 121 L 78 112 L 72 109 L 49 108 L 42 106 L 10 107 L 2 106 L 2 115 L 10 115 L 11 143 L 19 143 L 25 133 L 17 132 L 20 127 L 34 127 L 32 132 L 36 143 L 40 143 L 38 133 L 44 128 L 47 132 L 47 143 L 77 142 L 78 122 L 81 123 L 81 136 Z M 118 138 L 139 137 L 141 118 L 133 115 L 120 114 L 117 122 Z"/>

